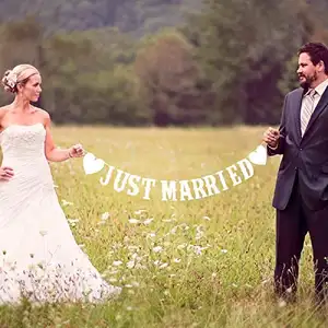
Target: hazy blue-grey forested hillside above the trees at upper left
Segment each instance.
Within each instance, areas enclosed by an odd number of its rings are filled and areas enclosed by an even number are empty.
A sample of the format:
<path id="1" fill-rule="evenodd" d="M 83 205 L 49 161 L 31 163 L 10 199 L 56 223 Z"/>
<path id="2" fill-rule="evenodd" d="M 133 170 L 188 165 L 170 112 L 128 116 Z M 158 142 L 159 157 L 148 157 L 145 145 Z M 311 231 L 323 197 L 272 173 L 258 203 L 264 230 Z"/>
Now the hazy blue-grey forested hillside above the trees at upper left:
<path id="1" fill-rule="evenodd" d="M 200 8 L 199 0 L 1 0 L 0 20 L 35 15 L 47 33 L 117 26 L 142 36 L 184 22 L 187 12 Z"/>

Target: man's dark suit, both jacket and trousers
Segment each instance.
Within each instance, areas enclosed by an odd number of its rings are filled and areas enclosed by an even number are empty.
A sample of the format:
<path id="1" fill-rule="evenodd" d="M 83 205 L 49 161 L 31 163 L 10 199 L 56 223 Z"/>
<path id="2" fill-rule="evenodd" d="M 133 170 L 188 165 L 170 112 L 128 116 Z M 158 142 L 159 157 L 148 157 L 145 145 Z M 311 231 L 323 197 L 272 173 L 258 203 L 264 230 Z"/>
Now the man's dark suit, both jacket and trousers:
<path id="1" fill-rule="evenodd" d="M 316 293 L 323 296 L 328 272 L 328 87 L 320 97 L 304 136 L 301 134 L 303 89 L 284 99 L 277 150 L 282 154 L 273 197 L 277 209 L 278 293 L 296 291 L 298 260 L 309 232 L 316 268 Z"/>

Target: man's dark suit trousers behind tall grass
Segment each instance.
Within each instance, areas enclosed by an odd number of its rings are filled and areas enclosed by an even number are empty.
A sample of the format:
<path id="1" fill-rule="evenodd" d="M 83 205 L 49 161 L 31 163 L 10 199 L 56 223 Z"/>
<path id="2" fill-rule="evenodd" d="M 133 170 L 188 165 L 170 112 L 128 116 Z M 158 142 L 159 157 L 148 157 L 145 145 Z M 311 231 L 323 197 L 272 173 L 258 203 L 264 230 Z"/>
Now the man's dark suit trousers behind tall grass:
<path id="1" fill-rule="evenodd" d="M 323 300 L 328 282 L 328 207 L 319 211 L 306 208 L 296 175 L 288 207 L 277 210 L 274 288 L 280 296 L 292 296 L 296 292 L 298 261 L 307 232 L 313 247 L 315 291 Z"/>

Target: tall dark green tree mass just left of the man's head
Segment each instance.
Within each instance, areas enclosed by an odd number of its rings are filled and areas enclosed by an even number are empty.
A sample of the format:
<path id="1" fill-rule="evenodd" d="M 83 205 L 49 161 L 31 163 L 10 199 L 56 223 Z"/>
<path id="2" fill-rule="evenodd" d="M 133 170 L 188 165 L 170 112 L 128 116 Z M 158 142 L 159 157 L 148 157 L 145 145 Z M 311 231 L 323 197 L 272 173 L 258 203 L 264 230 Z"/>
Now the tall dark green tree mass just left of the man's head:
<path id="1" fill-rule="evenodd" d="M 199 62 L 216 94 L 214 121 L 279 119 L 278 81 L 285 61 L 308 36 L 301 2 L 204 0 L 203 12 L 192 15 L 184 32 L 198 47 Z"/>

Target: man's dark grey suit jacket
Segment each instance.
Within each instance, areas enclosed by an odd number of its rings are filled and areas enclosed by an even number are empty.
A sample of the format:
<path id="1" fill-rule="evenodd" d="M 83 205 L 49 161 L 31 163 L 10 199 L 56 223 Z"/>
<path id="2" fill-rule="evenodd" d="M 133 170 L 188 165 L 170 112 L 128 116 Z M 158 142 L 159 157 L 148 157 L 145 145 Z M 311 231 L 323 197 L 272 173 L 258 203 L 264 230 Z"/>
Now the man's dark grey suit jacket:
<path id="1" fill-rule="evenodd" d="M 328 87 L 302 138 L 301 105 L 304 92 L 300 87 L 285 96 L 278 149 L 267 148 L 269 156 L 282 154 L 272 201 L 278 210 L 285 209 L 296 174 L 300 192 L 306 206 L 311 210 L 320 210 L 328 206 Z"/>

